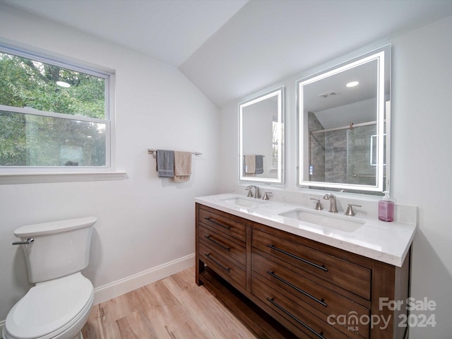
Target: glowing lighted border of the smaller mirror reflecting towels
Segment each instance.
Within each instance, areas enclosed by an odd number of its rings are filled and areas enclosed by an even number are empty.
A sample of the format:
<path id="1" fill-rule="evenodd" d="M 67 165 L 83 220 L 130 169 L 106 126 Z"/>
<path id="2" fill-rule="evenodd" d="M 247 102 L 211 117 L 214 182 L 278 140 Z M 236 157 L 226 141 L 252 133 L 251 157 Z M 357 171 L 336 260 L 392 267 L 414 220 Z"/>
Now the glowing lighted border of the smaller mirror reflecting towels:
<path id="1" fill-rule="evenodd" d="M 269 177 L 246 177 L 243 175 L 244 169 L 244 153 L 243 153 L 243 109 L 250 105 L 253 105 L 257 102 L 261 102 L 270 97 L 278 97 L 278 136 L 280 138 L 280 142 L 277 145 L 277 177 L 269 178 Z M 284 185 L 284 148 L 283 143 L 285 142 L 285 133 L 283 131 L 284 124 L 284 114 L 285 114 L 285 87 L 280 86 L 278 88 L 274 88 L 273 90 L 268 90 L 267 92 L 257 95 L 256 97 L 252 97 L 249 100 L 245 100 L 244 102 L 239 102 L 239 182 L 261 182 L 263 184 L 275 184 L 275 185 Z"/>

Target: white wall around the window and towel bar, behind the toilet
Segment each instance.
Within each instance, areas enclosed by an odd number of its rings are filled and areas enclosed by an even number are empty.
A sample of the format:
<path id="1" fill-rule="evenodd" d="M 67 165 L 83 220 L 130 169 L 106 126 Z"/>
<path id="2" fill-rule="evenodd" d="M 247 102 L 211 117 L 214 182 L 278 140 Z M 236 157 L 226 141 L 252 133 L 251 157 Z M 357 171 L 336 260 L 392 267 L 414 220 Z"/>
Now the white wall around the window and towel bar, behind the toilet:
<path id="1" fill-rule="evenodd" d="M 95 215 L 84 271 L 95 287 L 194 254 L 194 197 L 217 191 L 218 108 L 172 66 L 2 5 L 0 38 L 116 71 L 117 169 L 129 177 L 0 186 L 0 325 L 30 286 L 11 246 L 21 225 Z M 189 182 L 174 184 L 158 179 L 147 148 L 203 155 Z"/>

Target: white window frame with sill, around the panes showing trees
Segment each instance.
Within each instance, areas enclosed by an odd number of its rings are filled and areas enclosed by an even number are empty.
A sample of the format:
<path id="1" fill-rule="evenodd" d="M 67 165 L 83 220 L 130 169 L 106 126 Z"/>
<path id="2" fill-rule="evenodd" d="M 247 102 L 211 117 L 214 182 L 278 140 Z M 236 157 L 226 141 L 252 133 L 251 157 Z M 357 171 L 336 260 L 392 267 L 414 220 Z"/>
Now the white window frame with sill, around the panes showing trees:
<path id="1" fill-rule="evenodd" d="M 126 179 L 126 172 L 115 169 L 114 143 L 114 71 L 100 70 L 98 67 L 82 66 L 83 62 L 64 61 L 52 55 L 35 53 L 30 50 L 11 47 L 0 42 L 0 51 L 18 57 L 40 61 L 45 64 L 61 66 L 65 69 L 97 76 L 105 79 L 105 119 L 83 117 L 40 111 L 28 107 L 11 107 L 0 105 L 0 110 L 20 114 L 32 114 L 42 117 L 54 117 L 73 121 L 88 121 L 105 124 L 105 166 L 12 166 L 0 167 L 0 184 L 31 184 L 41 182 L 85 182 L 97 180 Z M 69 59 L 69 58 L 68 58 Z"/>

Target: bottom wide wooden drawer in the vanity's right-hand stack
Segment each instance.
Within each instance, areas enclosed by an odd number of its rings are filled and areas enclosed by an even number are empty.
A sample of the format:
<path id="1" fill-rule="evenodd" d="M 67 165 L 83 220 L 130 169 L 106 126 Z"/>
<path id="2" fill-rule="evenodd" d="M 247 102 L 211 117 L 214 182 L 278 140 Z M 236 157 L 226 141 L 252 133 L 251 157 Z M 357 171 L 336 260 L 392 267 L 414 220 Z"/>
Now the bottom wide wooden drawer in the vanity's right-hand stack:
<path id="1" fill-rule="evenodd" d="M 292 325 L 299 328 L 299 331 L 294 331 L 294 328 L 289 328 L 299 338 L 324 338 L 324 339 L 347 339 L 356 338 L 356 335 L 345 335 L 337 328 L 326 323 L 308 309 L 299 306 L 291 298 L 285 297 L 280 292 L 273 290 L 255 276 L 251 278 L 251 292 L 254 296 L 261 299 L 270 309 L 281 317 L 292 323 Z"/>

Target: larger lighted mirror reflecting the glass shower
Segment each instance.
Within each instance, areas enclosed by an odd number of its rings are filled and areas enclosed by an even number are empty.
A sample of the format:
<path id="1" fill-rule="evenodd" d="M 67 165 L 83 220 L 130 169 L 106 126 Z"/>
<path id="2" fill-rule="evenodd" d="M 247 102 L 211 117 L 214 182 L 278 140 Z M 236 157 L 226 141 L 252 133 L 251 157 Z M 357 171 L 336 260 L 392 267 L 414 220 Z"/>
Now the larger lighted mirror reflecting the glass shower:
<path id="1" fill-rule="evenodd" d="M 297 81 L 298 185 L 389 190 L 391 45 Z"/>

